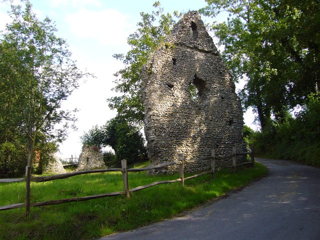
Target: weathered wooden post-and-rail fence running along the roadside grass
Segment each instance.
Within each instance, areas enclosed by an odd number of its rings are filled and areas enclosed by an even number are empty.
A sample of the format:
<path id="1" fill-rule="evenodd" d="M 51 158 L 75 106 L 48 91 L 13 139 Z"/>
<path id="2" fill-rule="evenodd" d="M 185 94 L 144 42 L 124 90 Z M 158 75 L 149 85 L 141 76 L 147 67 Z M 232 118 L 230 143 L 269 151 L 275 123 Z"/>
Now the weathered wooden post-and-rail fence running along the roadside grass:
<path id="1" fill-rule="evenodd" d="M 235 158 L 237 155 L 247 155 L 250 154 L 251 161 L 246 161 L 242 162 L 236 165 Z M 205 160 L 205 159 L 210 159 L 211 158 L 211 167 L 209 171 L 204 171 L 198 174 L 194 174 L 188 177 L 184 177 L 184 164 L 191 163 L 191 162 L 196 162 L 199 160 Z M 215 168 L 215 160 L 216 159 L 227 159 L 227 158 L 232 158 L 232 165 L 221 165 L 217 168 Z M 142 185 L 142 186 L 137 186 L 134 188 L 129 188 L 129 178 L 128 178 L 128 172 L 138 172 L 138 171 L 145 171 L 145 170 L 151 170 L 151 169 L 156 169 L 160 167 L 165 167 L 165 166 L 170 166 L 170 165 L 179 165 L 179 178 L 173 179 L 173 180 L 161 180 L 161 181 L 154 181 L 152 183 Z M 231 155 L 223 155 L 223 156 L 216 156 L 215 151 L 211 151 L 211 157 L 207 157 L 204 159 L 197 159 L 197 160 L 184 160 L 184 153 L 179 153 L 179 158 L 178 161 L 171 161 L 171 162 L 165 162 L 161 163 L 158 165 L 154 166 L 147 166 L 147 167 L 142 167 L 142 168 L 127 168 L 127 161 L 126 159 L 121 160 L 121 168 L 106 168 L 106 169 L 96 169 L 96 170 L 83 170 L 83 171 L 74 171 L 74 172 L 68 172 L 68 173 L 62 173 L 62 174 L 57 174 L 57 175 L 50 175 L 50 176 L 37 176 L 37 177 L 30 177 L 29 179 L 26 178 L 5 178 L 5 179 L 0 179 L 1 182 L 19 182 L 19 181 L 27 181 L 29 180 L 28 184 L 26 186 L 30 186 L 30 181 L 32 182 L 44 182 L 44 181 L 51 181 L 55 179 L 63 179 L 63 178 L 68 178 L 71 176 L 75 175 L 80 175 L 80 174 L 88 174 L 88 173 L 95 173 L 95 172 L 108 172 L 108 171 L 121 171 L 122 172 L 122 179 L 123 179 L 123 191 L 117 191 L 117 192 L 107 192 L 107 193 L 102 193 L 102 194 L 97 194 L 97 195 L 91 195 L 91 196 L 79 196 L 79 197 L 71 197 L 71 198 L 64 198 L 64 199 L 58 199 L 58 200 L 48 200 L 48 201 L 41 201 L 41 202 L 30 202 L 29 198 L 26 198 L 26 202 L 24 203 L 14 203 L 14 204 L 9 204 L 9 205 L 4 205 L 0 206 L 0 210 L 8 210 L 8 209 L 13 209 L 13 208 L 20 208 L 20 207 L 25 207 L 26 208 L 26 213 L 29 213 L 29 208 L 30 206 L 45 206 L 45 205 L 55 205 L 55 204 L 60 204 L 60 203 L 66 203 L 66 202 L 73 202 L 73 201 L 85 201 L 85 200 L 90 200 L 90 199 L 95 199 L 95 198 L 100 198 L 100 197 L 107 197 L 107 196 L 116 196 L 116 195 L 125 195 L 126 197 L 130 196 L 131 192 L 134 191 L 139 191 L 151 186 L 155 186 L 158 184 L 163 184 L 163 183 L 171 183 L 171 182 L 180 182 L 180 184 L 183 186 L 184 181 L 198 177 L 201 175 L 205 174 L 212 174 L 214 176 L 214 172 L 216 170 L 220 170 L 221 168 L 232 168 L 233 171 L 235 171 L 235 168 L 241 165 L 249 164 L 254 166 L 254 154 L 253 150 L 248 148 L 247 152 L 240 152 L 237 153 L 235 151 L 235 147 L 232 149 L 232 154 Z M 26 182 L 27 183 L 27 182 Z M 30 192 L 30 189 L 27 189 L 28 192 Z"/>

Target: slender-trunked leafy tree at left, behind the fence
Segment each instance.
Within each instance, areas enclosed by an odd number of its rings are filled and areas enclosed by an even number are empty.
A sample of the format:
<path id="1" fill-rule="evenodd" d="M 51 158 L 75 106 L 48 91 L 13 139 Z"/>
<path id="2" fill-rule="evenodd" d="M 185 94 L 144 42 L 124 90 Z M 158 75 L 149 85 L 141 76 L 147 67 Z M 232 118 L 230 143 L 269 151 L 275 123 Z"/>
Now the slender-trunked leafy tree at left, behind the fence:
<path id="1" fill-rule="evenodd" d="M 46 140 L 65 136 L 67 122 L 75 118 L 61 110 L 60 104 L 78 87 L 78 80 L 89 74 L 77 68 L 66 41 L 55 36 L 51 20 L 38 20 L 31 8 L 28 0 L 24 10 L 11 5 L 12 22 L 0 41 L 0 124 L 26 136 L 28 168 L 39 133 Z M 63 127 L 54 130 L 61 122 Z"/>

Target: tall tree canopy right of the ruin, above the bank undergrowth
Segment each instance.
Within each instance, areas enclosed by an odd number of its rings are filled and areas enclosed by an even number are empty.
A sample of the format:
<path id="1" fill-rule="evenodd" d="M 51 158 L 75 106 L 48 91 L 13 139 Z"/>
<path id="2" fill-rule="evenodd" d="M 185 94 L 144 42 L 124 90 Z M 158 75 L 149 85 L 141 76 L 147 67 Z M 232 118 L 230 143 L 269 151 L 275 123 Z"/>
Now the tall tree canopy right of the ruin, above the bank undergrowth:
<path id="1" fill-rule="evenodd" d="M 201 12 L 229 14 L 212 29 L 235 79 L 245 76 L 245 107 L 257 112 L 262 131 L 271 116 L 281 122 L 288 109 L 316 91 L 320 63 L 320 3 L 314 0 L 206 0 Z"/>

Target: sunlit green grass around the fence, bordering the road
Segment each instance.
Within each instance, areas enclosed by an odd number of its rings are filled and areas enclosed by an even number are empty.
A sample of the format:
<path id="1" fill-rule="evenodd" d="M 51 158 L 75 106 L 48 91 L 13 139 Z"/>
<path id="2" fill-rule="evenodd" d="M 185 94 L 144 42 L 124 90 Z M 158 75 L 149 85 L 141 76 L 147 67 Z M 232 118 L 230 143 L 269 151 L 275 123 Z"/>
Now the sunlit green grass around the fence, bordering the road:
<path id="1" fill-rule="evenodd" d="M 147 163 L 144 163 L 146 165 Z M 141 167 L 137 164 L 135 167 Z M 190 209 L 267 173 L 256 163 L 232 173 L 229 169 L 215 176 L 203 175 L 184 182 L 160 184 L 124 196 L 104 197 L 81 202 L 0 211 L 0 239 L 89 239 L 160 221 Z M 149 176 L 129 173 L 129 185 L 175 179 L 178 175 Z M 119 172 L 92 173 L 48 182 L 31 183 L 31 201 L 93 195 L 122 190 Z M 25 202 L 24 182 L 1 183 L 0 205 Z"/>

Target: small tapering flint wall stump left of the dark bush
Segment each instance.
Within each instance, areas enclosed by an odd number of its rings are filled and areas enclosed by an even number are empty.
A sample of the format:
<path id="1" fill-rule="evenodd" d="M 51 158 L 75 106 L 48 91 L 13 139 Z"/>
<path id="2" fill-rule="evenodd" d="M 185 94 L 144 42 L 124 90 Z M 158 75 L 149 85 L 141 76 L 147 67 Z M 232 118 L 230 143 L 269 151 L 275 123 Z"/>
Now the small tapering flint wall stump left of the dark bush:
<path id="1" fill-rule="evenodd" d="M 105 168 L 103 154 L 97 146 L 84 144 L 79 156 L 77 171 Z"/>

